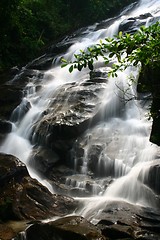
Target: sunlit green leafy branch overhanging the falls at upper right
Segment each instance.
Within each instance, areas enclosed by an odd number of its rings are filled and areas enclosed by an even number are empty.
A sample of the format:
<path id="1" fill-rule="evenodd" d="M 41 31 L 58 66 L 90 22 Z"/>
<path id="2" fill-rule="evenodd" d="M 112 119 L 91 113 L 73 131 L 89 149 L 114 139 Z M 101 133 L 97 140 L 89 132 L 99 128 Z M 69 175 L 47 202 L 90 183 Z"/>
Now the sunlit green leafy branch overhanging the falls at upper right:
<path id="1" fill-rule="evenodd" d="M 67 62 L 62 59 L 62 67 L 70 65 L 69 71 L 88 67 L 90 70 L 94 68 L 94 62 L 102 56 L 104 62 L 108 64 L 117 59 L 117 63 L 112 65 L 110 74 L 117 76 L 117 70 L 123 71 L 129 65 L 134 66 L 141 63 L 143 68 L 153 69 L 160 67 L 160 25 L 159 22 L 149 26 L 142 26 L 139 31 L 131 35 L 119 32 L 115 38 L 106 38 L 99 44 L 88 47 L 86 51 L 80 50 L 79 54 L 75 54 L 75 61 Z"/>

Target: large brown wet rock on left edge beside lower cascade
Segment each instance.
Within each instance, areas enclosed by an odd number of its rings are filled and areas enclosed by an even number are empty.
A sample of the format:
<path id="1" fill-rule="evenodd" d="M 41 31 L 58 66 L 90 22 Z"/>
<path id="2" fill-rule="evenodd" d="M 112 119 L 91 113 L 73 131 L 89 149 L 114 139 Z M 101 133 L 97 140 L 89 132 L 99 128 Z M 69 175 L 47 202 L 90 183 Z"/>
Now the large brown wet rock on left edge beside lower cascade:
<path id="1" fill-rule="evenodd" d="M 0 154 L 0 219 L 45 219 L 71 213 L 77 202 L 52 194 L 32 179 L 24 164 L 11 155 Z"/>

